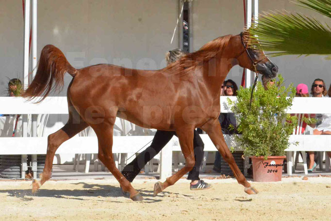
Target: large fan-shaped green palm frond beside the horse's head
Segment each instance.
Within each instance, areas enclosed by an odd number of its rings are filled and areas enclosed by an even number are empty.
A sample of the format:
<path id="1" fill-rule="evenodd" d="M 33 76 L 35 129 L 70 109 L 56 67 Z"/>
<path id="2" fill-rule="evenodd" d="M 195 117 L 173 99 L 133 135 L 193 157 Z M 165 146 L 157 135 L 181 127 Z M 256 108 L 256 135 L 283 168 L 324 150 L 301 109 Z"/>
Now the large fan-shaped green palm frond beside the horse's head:
<path id="1" fill-rule="evenodd" d="M 272 51 L 271 56 L 331 54 L 331 28 L 312 17 L 286 11 L 265 13 L 248 32 L 251 44 Z"/>

